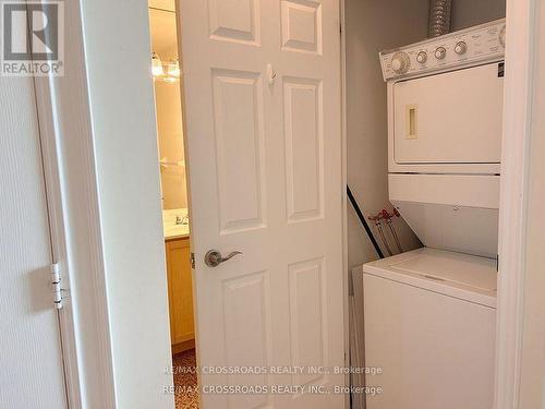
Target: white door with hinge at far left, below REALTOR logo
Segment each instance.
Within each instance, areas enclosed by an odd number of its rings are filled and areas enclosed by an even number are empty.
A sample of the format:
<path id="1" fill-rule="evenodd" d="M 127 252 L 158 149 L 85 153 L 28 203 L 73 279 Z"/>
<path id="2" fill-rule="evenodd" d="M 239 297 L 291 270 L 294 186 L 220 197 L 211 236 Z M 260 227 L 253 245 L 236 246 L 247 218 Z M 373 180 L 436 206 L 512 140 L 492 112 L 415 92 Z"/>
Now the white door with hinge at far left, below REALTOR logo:
<path id="1" fill-rule="evenodd" d="M 0 408 L 65 408 L 32 77 L 0 76 Z"/>

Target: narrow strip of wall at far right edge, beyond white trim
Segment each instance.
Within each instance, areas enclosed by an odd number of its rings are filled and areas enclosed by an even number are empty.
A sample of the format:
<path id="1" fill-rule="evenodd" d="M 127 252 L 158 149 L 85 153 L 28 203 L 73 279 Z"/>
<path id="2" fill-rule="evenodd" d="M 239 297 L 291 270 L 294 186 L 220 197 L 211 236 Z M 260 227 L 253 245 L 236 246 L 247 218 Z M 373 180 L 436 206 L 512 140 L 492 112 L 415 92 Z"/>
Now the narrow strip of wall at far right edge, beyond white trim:
<path id="1" fill-rule="evenodd" d="M 545 408 L 545 5 L 537 2 L 520 409 Z"/>

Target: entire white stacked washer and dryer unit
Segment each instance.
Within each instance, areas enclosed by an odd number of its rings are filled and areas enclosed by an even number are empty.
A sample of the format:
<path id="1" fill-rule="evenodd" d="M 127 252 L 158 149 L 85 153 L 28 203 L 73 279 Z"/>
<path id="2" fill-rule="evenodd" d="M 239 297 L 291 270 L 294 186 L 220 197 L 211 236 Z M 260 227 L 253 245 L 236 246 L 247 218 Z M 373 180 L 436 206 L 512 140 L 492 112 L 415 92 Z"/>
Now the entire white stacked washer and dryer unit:
<path id="1" fill-rule="evenodd" d="M 425 246 L 362 267 L 367 409 L 493 407 L 504 46 L 500 20 L 380 52 L 389 197 Z"/>

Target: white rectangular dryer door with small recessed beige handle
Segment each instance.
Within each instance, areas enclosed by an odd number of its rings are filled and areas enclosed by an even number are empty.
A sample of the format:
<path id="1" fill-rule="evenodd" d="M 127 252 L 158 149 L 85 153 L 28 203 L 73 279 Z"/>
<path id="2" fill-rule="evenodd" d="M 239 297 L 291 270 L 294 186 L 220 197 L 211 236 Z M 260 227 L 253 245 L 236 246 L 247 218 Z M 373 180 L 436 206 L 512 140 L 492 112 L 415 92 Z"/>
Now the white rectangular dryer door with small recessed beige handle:
<path id="1" fill-rule="evenodd" d="M 499 164 L 504 105 L 498 63 L 393 85 L 397 164 Z"/>

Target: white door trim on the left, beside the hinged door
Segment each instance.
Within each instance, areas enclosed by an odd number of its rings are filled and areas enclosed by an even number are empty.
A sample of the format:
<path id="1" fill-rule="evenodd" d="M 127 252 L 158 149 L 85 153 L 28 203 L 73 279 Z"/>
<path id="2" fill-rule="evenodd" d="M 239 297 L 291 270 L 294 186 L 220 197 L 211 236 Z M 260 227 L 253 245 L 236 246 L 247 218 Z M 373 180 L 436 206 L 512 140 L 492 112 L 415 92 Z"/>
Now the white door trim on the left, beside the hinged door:
<path id="1" fill-rule="evenodd" d="M 113 361 L 80 4 L 64 8 L 66 75 L 36 77 L 35 92 L 52 257 L 64 289 L 59 324 L 68 404 L 110 409 Z"/>

